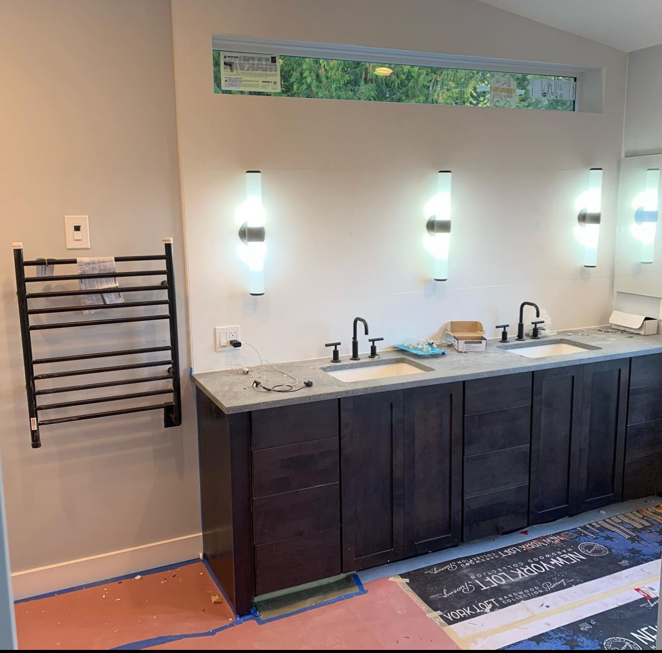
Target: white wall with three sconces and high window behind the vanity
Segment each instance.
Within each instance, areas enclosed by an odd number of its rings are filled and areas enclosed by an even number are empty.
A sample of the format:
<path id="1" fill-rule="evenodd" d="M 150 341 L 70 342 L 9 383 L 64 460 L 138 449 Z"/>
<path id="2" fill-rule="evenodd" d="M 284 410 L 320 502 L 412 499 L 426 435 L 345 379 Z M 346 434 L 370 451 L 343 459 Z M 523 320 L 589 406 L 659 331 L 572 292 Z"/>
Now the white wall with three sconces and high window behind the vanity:
<path id="1" fill-rule="evenodd" d="M 447 320 L 604 324 L 612 304 L 626 54 L 473 0 L 173 0 L 175 87 L 195 370 L 348 351 L 351 320 L 392 345 Z M 604 112 L 564 113 L 214 95 L 211 35 L 605 67 Z M 598 267 L 581 267 L 575 198 L 604 168 Z M 263 172 L 265 296 L 247 294 L 233 212 Z M 422 206 L 453 171 L 449 281 L 430 281 Z"/>

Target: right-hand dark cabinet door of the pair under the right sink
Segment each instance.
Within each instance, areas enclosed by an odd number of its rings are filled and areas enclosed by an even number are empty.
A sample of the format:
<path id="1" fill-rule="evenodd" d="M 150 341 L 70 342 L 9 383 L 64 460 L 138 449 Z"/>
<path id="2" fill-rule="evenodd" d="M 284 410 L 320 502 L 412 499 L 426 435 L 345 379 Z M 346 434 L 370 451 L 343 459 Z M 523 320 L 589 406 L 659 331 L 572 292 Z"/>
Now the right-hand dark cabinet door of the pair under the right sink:
<path id="1" fill-rule="evenodd" d="M 621 500 L 630 360 L 584 366 L 577 511 Z"/>

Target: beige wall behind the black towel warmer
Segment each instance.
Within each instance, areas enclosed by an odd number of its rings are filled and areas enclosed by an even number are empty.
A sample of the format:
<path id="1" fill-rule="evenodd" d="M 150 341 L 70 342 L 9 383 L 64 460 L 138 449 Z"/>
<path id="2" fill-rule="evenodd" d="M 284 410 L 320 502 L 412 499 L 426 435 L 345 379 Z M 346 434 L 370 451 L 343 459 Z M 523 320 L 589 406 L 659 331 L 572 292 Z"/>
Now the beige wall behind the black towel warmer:
<path id="1" fill-rule="evenodd" d="M 0 443 L 13 572 L 199 533 L 169 2 L 2 0 L 0 89 Z M 90 216 L 83 255 L 161 253 L 162 236 L 175 239 L 183 427 L 164 429 L 161 412 L 90 420 L 44 427 L 42 448 L 30 449 L 11 243 L 23 241 L 28 258 L 71 256 L 65 214 Z M 166 323 L 93 333 L 35 342 L 54 355 L 167 341 Z M 190 542 L 169 562 L 196 556 Z M 121 559 L 135 570 L 136 558 Z M 76 573 L 62 582 L 90 580 Z"/>

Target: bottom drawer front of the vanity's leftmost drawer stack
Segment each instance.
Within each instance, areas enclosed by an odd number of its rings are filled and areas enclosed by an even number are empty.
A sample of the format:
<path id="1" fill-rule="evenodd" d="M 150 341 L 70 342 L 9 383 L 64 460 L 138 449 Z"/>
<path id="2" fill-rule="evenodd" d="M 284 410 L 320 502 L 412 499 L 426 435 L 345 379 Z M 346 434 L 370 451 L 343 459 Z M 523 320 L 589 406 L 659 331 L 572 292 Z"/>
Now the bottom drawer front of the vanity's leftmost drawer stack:
<path id="1" fill-rule="evenodd" d="M 340 572 L 338 527 L 255 547 L 258 595 L 329 578 Z"/>

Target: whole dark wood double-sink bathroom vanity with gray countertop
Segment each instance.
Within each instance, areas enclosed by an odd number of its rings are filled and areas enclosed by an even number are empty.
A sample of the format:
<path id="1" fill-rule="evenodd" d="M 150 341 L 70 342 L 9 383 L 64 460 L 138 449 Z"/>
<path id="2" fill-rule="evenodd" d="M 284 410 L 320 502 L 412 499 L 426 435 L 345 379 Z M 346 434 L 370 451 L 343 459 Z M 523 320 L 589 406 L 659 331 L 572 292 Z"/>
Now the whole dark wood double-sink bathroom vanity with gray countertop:
<path id="1" fill-rule="evenodd" d="M 237 613 L 256 595 L 660 492 L 662 336 L 582 333 L 424 363 L 388 351 L 282 365 L 313 382 L 292 394 L 256 392 L 254 378 L 279 376 L 259 368 L 195 374 L 204 552 Z M 563 344 L 574 349 L 512 350 Z M 417 369 L 330 373 L 391 365 Z"/>

